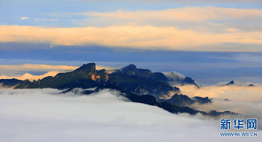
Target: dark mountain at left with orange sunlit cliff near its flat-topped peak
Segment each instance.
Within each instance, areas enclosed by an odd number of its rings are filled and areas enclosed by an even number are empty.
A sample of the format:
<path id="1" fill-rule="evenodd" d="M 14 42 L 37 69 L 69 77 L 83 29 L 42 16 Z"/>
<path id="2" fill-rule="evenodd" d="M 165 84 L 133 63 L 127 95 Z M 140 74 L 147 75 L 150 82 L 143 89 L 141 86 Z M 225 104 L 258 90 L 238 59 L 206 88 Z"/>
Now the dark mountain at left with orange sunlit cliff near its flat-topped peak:
<path id="1" fill-rule="evenodd" d="M 108 75 L 105 69 L 97 71 L 95 69 L 95 63 L 83 64 L 78 69 L 67 72 L 58 73 L 56 76 L 48 76 L 43 79 L 38 79 L 30 82 L 24 80 L 24 82 L 15 89 L 23 88 L 92 88 L 97 87 L 100 84 L 104 84 L 108 80 Z"/>

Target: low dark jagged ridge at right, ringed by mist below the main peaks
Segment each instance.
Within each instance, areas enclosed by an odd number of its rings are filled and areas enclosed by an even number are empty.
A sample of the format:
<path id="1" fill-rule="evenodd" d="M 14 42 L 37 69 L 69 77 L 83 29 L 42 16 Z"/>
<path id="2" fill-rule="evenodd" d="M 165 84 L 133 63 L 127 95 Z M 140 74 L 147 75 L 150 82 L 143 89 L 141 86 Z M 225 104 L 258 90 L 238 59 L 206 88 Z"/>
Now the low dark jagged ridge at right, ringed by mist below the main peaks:
<path id="1" fill-rule="evenodd" d="M 193 98 L 189 98 L 187 95 L 183 95 L 183 94 L 174 94 L 171 98 L 164 100 L 161 99 L 160 102 L 166 101 L 170 104 L 173 105 L 177 105 L 180 107 L 185 107 L 185 106 L 189 106 L 193 103 L 200 103 L 200 104 L 205 104 L 205 103 L 211 103 L 211 99 L 209 99 L 208 97 L 198 97 L 195 96 Z"/>

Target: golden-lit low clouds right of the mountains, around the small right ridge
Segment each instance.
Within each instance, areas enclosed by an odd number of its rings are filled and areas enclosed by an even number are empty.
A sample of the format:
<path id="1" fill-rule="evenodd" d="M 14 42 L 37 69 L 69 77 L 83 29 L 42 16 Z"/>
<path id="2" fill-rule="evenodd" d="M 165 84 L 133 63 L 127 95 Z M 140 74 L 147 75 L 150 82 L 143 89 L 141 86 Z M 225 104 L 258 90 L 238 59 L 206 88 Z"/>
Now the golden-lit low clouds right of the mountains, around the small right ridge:
<path id="1" fill-rule="evenodd" d="M 239 84 L 240 82 L 237 82 Z M 247 85 L 250 82 L 241 83 Z M 213 98 L 212 103 L 190 105 L 197 110 L 209 112 L 216 111 L 231 111 L 247 115 L 247 117 L 257 117 L 262 119 L 262 85 L 256 83 L 256 87 L 247 86 L 205 86 L 196 88 L 194 85 L 178 86 L 181 94 L 185 94 L 190 98 L 194 96 Z M 229 99 L 230 101 L 224 101 Z M 262 123 L 261 123 L 262 125 Z"/>

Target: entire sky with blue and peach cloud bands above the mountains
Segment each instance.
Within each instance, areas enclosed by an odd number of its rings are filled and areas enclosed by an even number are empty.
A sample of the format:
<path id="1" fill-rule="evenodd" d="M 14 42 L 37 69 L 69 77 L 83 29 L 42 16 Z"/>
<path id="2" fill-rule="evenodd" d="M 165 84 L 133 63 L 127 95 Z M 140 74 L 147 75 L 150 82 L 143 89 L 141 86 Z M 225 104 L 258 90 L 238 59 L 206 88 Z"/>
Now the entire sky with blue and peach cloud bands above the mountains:
<path id="1" fill-rule="evenodd" d="M 261 19 L 261 0 L 1 0 L 0 78 L 95 62 L 176 71 L 202 85 L 262 83 Z"/>

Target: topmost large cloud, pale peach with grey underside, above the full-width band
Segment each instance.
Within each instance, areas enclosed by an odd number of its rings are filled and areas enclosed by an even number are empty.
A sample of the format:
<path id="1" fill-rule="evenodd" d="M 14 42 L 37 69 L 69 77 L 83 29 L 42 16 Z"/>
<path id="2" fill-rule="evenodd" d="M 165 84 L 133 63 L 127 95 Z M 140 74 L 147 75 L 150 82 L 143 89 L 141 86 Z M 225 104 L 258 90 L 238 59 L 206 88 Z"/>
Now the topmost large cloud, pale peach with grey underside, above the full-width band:
<path id="1" fill-rule="evenodd" d="M 208 33 L 262 31 L 261 9 L 205 7 L 179 7 L 164 10 L 126 10 L 107 12 L 74 12 L 50 14 L 85 16 L 79 19 L 80 26 L 173 26 L 183 30 Z M 106 22 L 105 22 L 106 21 Z"/>

